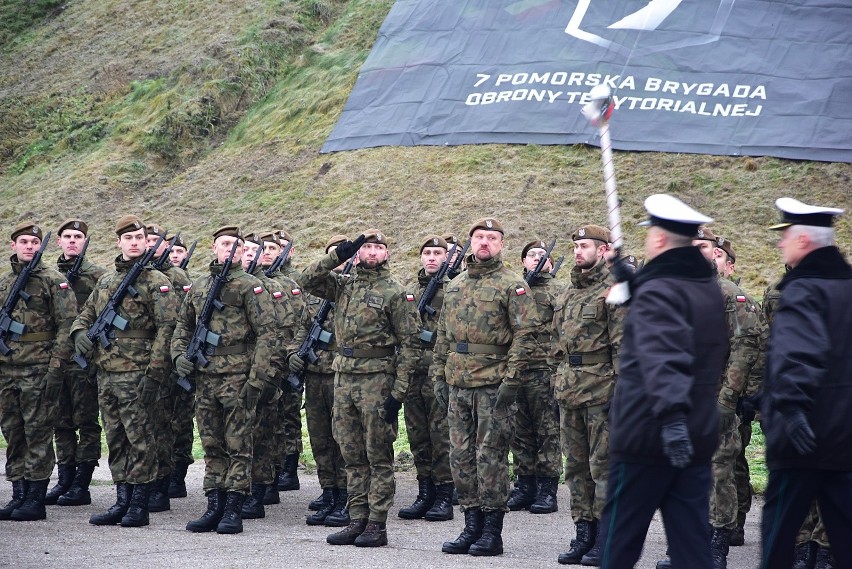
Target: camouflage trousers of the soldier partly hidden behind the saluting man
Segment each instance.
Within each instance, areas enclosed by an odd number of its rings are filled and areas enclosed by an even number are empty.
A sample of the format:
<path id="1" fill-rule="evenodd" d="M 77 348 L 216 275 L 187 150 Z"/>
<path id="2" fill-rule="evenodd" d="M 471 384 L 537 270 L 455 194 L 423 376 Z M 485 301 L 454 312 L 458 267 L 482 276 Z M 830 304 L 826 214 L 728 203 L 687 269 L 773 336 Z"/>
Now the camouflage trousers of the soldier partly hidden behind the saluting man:
<path id="1" fill-rule="evenodd" d="M 334 374 L 305 374 L 305 420 L 320 488 L 346 488 L 346 465 L 334 440 Z"/>

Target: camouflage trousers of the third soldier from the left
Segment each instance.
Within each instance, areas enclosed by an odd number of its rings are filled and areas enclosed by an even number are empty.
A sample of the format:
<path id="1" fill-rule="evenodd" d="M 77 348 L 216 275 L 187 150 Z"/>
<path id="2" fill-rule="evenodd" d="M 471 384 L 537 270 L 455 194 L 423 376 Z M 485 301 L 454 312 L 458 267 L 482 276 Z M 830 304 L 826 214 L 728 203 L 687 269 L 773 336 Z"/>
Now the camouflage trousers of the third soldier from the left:
<path id="1" fill-rule="evenodd" d="M 139 399 L 144 377 L 142 371 L 98 371 L 98 404 L 113 482 L 147 484 L 157 477 L 157 448 L 151 433 L 154 411 Z"/>

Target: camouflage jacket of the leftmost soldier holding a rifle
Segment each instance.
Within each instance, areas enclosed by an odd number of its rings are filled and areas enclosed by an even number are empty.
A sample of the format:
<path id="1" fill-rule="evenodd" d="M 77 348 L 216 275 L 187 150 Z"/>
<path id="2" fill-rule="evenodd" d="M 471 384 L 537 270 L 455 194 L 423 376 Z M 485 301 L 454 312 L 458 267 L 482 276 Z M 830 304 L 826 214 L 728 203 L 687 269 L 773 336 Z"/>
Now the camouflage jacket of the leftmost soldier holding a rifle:
<path id="1" fill-rule="evenodd" d="M 15 279 L 26 266 L 18 261 L 17 255 L 12 255 L 10 261 L 12 270 L 0 276 L 0 303 L 6 302 Z M 73 352 L 68 331 L 77 315 L 74 291 L 65 282 L 64 275 L 45 267 L 43 262 L 30 273 L 24 290 L 30 295 L 29 302 L 18 299 L 10 315 L 25 326 L 24 334 L 17 341 L 6 337 L 12 353 L 0 356 L 0 364 L 65 369 Z"/>

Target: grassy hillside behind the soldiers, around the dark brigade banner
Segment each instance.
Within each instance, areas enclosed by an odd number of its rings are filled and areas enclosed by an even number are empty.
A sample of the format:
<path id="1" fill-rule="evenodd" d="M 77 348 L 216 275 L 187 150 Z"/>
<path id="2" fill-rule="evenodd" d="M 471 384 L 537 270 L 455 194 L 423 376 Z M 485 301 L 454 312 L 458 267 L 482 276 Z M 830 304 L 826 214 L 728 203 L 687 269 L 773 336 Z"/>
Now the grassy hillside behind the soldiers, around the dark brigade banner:
<path id="1" fill-rule="evenodd" d="M 570 254 L 576 225 L 606 221 L 596 148 L 319 154 L 391 5 L 0 0 L 0 232 L 80 215 L 105 261 L 126 212 L 204 244 L 225 222 L 285 226 L 304 264 L 331 234 L 378 226 L 407 278 L 421 236 L 495 215 L 515 267 L 536 237 Z M 758 295 L 779 273 L 776 197 L 852 207 L 847 164 L 617 153 L 616 174 L 631 250 L 644 197 L 673 193 L 718 220 Z"/>

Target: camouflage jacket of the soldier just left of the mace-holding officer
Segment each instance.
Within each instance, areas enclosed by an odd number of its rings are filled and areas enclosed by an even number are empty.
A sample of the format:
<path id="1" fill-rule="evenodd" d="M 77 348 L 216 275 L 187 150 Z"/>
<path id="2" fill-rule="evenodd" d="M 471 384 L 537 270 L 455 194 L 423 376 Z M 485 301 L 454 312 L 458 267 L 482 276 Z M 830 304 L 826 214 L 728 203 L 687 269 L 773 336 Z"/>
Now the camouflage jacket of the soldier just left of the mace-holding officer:
<path id="1" fill-rule="evenodd" d="M 627 305 L 606 303 L 608 277 L 602 262 L 585 273 L 575 266 L 553 312 L 554 392 L 571 407 L 603 405 L 615 390 Z"/>

